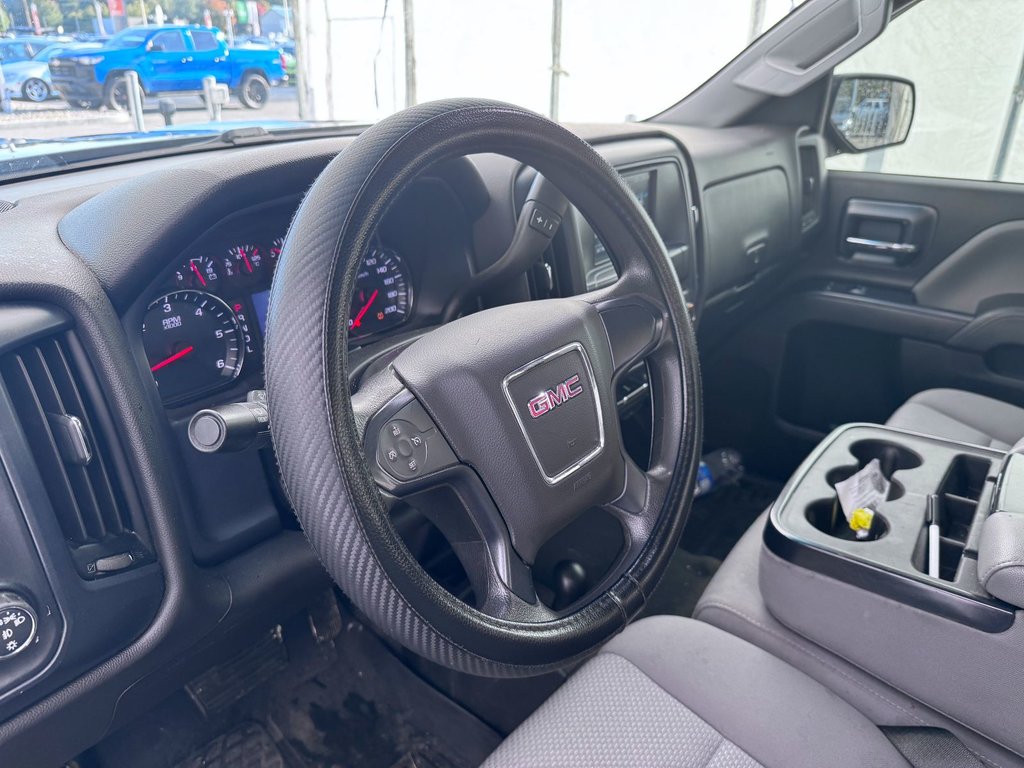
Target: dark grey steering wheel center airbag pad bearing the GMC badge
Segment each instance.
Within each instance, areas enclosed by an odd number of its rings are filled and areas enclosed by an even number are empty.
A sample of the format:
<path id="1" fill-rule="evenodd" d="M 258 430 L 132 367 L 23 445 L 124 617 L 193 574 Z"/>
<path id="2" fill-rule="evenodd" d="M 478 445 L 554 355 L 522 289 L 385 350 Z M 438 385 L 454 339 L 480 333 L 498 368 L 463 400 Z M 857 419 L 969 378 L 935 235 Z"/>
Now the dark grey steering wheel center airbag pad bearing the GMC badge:
<path id="1" fill-rule="evenodd" d="M 564 351 L 549 357 L 551 350 Z M 392 367 L 456 456 L 480 475 L 527 563 L 580 512 L 622 490 L 614 397 L 594 383 L 596 375 L 610 384 L 611 350 L 590 304 L 553 300 L 477 312 L 420 339 Z M 581 393 L 561 400 L 558 385 L 580 374 L 582 383 L 564 390 Z M 549 389 L 560 404 L 548 401 L 531 418 L 530 402 Z"/>

